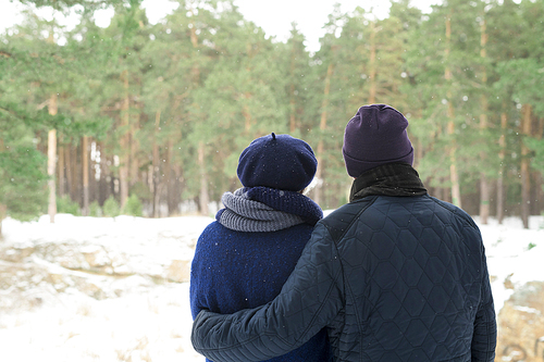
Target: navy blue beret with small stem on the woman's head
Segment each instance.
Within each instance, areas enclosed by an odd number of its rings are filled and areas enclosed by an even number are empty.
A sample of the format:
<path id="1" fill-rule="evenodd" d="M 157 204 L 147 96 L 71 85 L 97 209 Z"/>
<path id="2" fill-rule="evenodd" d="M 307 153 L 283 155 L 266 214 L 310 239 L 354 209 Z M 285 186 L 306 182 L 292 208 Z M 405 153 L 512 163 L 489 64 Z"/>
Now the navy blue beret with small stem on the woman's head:
<path id="1" fill-rule="evenodd" d="M 242 151 L 237 173 L 245 187 L 300 191 L 310 185 L 317 168 L 318 160 L 307 142 L 272 133 Z"/>

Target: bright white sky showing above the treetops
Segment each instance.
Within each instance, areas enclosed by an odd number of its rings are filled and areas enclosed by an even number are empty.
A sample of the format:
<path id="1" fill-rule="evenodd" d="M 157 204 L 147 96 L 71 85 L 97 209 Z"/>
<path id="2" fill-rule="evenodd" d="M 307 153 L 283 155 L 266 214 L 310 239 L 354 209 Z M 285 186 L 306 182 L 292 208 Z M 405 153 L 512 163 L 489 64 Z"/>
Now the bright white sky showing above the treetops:
<path id="1" fill-rule="evenodd" d="M 430 11 L 430 5 L 438 3 L 440 0 L 412 0 L 412 3 L 424 12 Z M 332 13 L 335 3 L 341 4 L 343 12 L 353 11 L 360 5 L 367 10 L 371 8 L 379 17 L 384 17 L 390 8 L 386 0 L 235 0 L 244 16 L 262 27 L 268 36 L 276 36 L 277 40 L 284 41 L 288 38 L 290 24 L 298 23 L 298 28 L 307 38 L 307 47 L 311 51 L 319 48 L 319 38 L 323 36 L 322 26 Z M 149 21 L 154 24 L 164 17 L 177 5 L 169 0 L 144 0 Z M 0 0 L 0 33 L 22 21 L 21 10 L 23 7 L 16 0 Z M 51 10 L 41 9 L 39 15 L 51 18 Z M 96 14 L 97 24 L 108 26 L 112 16 L 111 10 L 101 11 Z M 77 22 L 76 17 L 63 18 L 61 24 L 69 27 Z"/>

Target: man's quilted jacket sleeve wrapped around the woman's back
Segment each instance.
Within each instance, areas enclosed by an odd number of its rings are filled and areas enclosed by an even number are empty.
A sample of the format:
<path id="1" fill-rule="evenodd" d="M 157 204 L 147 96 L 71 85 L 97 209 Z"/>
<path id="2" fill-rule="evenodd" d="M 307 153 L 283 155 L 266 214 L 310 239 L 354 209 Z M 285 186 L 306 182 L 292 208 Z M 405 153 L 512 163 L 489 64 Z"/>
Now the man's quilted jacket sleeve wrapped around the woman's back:
<path id="1" fill-rule="evenodd" d="M 201 311 L 193 323 L 193 347 L 215 362 L 268 360 L 304 345 L 343 305 L 338 252 L 319 223 L 273 301 L 227 315 Z"/>

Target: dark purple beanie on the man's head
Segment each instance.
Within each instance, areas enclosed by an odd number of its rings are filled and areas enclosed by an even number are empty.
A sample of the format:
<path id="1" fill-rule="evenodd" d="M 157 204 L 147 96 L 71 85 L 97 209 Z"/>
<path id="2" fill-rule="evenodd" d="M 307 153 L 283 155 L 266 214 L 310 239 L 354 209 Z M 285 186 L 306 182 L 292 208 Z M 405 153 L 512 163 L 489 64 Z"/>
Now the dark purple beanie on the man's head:
<path id="1" fill-rule="evenodd" d="M 363 105 L 344 133 L 344 162 L 349 176 L 385 163 L 413 163 L 413 148 L 406 132 L 406 117 L 387 104 Z"/>

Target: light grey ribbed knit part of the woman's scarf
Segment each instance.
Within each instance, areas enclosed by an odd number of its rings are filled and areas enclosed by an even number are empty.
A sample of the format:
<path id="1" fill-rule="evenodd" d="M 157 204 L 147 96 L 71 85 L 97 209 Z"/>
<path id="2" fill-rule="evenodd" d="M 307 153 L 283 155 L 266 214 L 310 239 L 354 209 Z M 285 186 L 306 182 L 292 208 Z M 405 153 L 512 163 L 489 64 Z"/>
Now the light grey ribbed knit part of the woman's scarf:
<path id="1" fill-rule="evenodd" d="M 244 188 L 223 194 L 225 209 L 215 216 L 221 225 L 237 232 L 277 232 L 305 223 L 298 215 L 250 200 Z"/>

